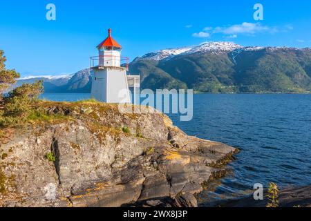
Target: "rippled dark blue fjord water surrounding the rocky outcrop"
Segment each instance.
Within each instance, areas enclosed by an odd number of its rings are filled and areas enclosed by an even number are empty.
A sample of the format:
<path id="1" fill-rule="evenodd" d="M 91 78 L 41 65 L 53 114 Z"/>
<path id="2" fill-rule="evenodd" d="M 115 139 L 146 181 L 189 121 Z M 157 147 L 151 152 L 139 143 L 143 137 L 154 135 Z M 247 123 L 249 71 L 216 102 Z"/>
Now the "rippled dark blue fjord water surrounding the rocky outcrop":
<path id="1" fill-rule="evenodd" d="M 89 94 L 44 94 L 55 101 Z M 232 171 L 200 194 L 201 206 L 251 193 L 254 184 L 311 184 L 311 95 L 194 95 L 194 119 L 174 124 L 189 135 L 241 150 Z"/>

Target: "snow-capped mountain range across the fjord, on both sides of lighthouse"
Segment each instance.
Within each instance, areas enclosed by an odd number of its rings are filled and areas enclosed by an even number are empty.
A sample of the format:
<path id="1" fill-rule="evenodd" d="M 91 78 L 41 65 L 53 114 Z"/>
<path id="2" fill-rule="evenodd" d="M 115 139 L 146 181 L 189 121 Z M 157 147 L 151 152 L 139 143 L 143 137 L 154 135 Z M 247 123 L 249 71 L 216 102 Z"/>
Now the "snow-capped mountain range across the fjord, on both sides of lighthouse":
<path id="1" fill-rule="evenodd" d="M 206 93 L 309 93 L 311 49 L 244 47 L 232 42 L 150 52 L 135 58 L 131 74 L 142 88 L 193 88 Z M 37 78 L 28 78 L 35 80 Z M 18 84 L 25 82 L 21 79 Z M 90 93 L 89 69 L 58 78 L 44 77 L 48 93 Z"/>

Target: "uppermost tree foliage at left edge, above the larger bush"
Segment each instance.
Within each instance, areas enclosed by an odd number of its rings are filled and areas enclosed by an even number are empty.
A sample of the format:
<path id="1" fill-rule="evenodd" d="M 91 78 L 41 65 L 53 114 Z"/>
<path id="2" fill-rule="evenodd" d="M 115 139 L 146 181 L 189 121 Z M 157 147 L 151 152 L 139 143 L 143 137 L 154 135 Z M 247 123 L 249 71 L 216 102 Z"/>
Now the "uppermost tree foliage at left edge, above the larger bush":
<path id="1" fill-rule="evenodd" d="M 3 50 L 0 50 L 0 99 L 4 91 L 11 84 L 15 84 L 16 79 L 20 76 L 15 70 L 6 70 L 6 57 L 3 55 Z"/>

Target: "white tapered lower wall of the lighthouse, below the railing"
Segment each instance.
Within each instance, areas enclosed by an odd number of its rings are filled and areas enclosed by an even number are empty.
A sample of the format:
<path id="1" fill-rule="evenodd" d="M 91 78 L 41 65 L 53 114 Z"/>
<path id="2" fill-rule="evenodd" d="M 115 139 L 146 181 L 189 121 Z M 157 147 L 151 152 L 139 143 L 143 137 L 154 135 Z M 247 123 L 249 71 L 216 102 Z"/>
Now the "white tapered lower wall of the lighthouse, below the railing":
<path id="1" fill-rule="evenodd" d="M 123 91 L 123 97 L 119 97 Z M 121 68 L 94 69 L 92 97 L 105 103 L 131 103 L 126 70 Z"/>

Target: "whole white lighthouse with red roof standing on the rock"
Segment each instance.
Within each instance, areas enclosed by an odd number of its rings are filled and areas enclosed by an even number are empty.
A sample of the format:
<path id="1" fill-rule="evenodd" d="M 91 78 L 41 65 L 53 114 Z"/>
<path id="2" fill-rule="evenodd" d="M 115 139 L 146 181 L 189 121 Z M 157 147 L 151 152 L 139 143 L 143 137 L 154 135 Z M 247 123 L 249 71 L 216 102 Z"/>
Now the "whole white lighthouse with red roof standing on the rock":
<path id="1" fill-rule="evenodd" d="M 110 28 L 108 34 L 97 46 L 99 55 L 91 57 L 92 97 L 105 103 L 131 103 L 126 76 L 129 58 L 121 57 L 122 47 L 111 37 Z"/>

